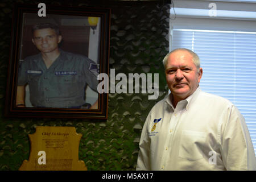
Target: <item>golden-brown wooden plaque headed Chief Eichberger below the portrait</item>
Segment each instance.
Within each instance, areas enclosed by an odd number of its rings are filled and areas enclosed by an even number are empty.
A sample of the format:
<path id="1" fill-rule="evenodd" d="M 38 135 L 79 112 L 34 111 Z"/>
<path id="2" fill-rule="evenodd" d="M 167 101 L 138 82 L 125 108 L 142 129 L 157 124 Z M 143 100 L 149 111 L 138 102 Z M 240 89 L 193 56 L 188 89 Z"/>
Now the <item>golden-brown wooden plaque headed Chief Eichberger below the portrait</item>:
<path id="1" fill-rule="evenodd" d="M 37 126 L 29 134 L 30 156 L 23 160 L 20 171 L 86 171 L 79 160 L 79 143 L 82 137 L 75 127 Z"/>

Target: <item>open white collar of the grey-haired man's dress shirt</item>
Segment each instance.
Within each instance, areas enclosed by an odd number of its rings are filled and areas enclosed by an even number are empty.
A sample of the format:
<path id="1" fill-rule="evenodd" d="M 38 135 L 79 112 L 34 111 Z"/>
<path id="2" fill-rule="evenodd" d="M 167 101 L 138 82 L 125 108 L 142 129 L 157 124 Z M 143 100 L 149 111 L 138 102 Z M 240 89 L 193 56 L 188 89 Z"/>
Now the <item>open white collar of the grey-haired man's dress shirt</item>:
<path id="1" fill-rule="evenodd" d="M 188 96 L 185 100 L 182 100 L 180 102 L 178 102 L 177 105 L 181 105 L 181 107 L 185 108 L 186 110 L 189 109 L 189 107 L 191 106 L 191 104 L 193 103 L 193 101 L 196 99 L 196 97 L 198 96 L 198 94 L 201 92 L 200 86 L 197 87 L 196 91 L 193 92 L 190 96 Z M 167 97 L 165 102 L 167 104 L 169 104 L 173 110 L 175 110 L 174 105 L 172 105 L 172 100 L 173 100 L 173 95 L 172 93 L 170 93 Z M 177 108 L 177 106 L 176 106 Z"/>

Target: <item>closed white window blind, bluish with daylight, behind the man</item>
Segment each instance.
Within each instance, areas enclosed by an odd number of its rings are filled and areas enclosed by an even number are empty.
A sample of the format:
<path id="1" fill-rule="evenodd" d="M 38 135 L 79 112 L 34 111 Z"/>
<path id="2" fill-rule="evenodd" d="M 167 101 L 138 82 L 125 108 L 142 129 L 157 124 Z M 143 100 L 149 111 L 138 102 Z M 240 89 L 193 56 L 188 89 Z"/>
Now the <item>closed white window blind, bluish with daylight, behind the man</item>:
<path id="1" fill-rule="evenodd" d="M 245 118 L 256 155 L 256 32 L 174 29 L 172 49 L 201 60 L 201 90 L 233 102 Z"/>

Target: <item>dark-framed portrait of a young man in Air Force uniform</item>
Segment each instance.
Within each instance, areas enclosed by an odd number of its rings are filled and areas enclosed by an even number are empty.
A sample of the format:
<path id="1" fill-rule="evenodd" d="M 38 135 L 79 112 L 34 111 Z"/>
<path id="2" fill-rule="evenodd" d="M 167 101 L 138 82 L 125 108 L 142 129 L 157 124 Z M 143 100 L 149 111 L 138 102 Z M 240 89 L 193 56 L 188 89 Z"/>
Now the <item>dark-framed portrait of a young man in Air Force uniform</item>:
<path id="1" fill-rule="evenodd" d="M 110 9 L 16 5 L 6 117 L 108 117 Z"/>

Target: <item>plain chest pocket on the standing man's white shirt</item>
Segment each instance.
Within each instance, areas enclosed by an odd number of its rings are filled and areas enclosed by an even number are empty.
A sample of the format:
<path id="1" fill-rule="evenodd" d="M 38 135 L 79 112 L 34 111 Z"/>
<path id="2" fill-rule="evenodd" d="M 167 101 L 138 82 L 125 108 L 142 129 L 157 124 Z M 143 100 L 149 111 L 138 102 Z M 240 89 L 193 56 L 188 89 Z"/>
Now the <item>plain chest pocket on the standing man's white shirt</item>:
<path id="1" fill-rule="evenodd" d="M 183 130 L 179 144 L 179 157 L 187 160 L 203 159 L 207 133 Z"/>

